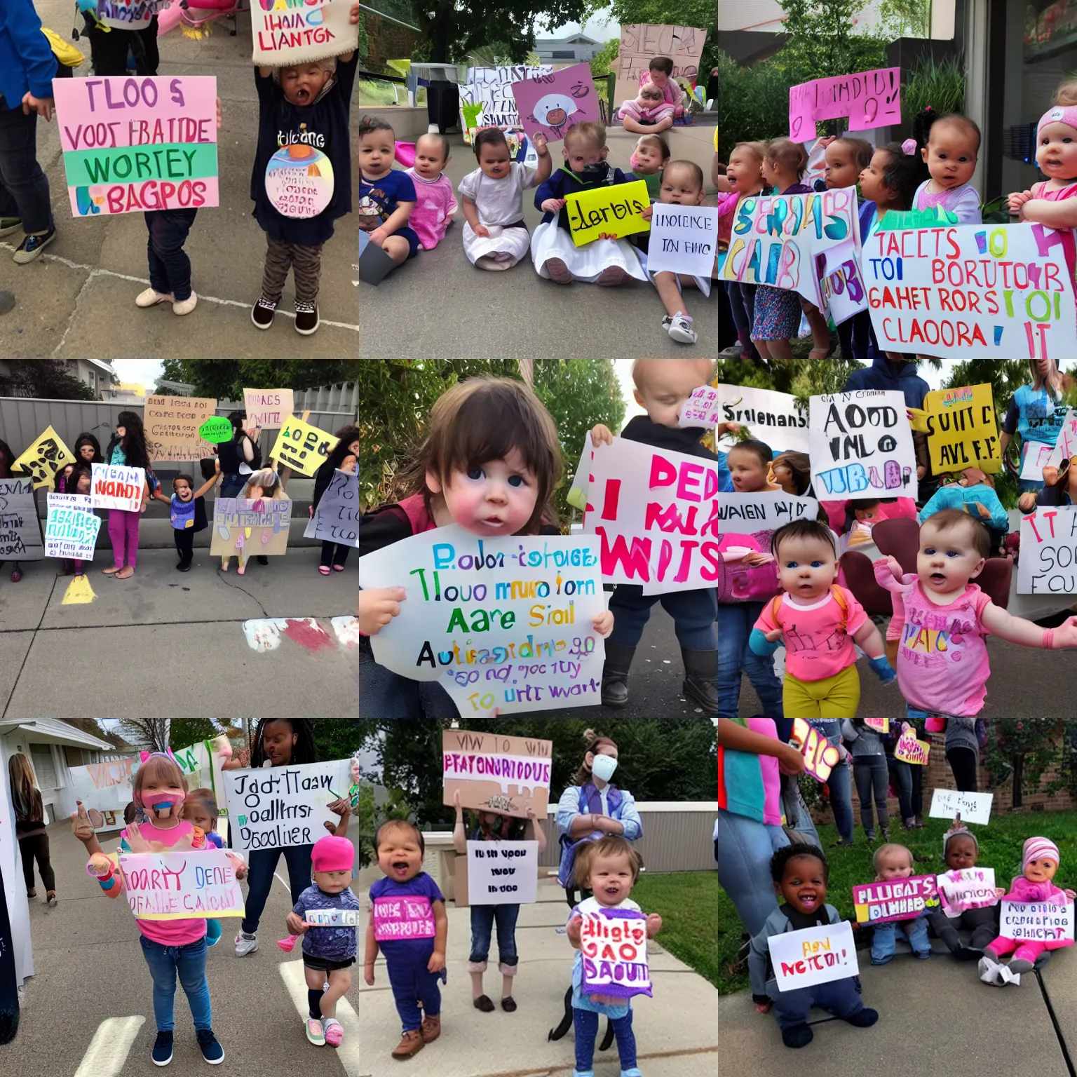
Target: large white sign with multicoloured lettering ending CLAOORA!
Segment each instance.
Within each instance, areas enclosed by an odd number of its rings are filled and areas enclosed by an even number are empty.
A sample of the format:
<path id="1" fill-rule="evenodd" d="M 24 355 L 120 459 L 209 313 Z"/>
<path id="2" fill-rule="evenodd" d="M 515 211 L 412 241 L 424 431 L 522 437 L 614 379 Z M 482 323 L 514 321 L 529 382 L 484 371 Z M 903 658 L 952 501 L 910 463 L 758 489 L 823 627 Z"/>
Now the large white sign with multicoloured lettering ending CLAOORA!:
<path id="1" fill-rule="evenodd" d="M 1074 285 L 1062 233 L 1040 224 L 878 232 L 861 271 L 886 351 L 1049 359 L 1073 351 Z"/>

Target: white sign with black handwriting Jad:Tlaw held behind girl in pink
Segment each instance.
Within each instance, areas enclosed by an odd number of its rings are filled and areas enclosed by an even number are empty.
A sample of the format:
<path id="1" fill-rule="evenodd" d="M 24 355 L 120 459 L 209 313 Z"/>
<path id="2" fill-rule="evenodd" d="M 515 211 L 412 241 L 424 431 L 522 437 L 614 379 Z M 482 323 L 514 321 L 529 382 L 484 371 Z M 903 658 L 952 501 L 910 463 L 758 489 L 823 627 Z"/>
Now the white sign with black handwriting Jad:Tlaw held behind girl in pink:
<path id="1" fill-rule="evenodd" d="M 286 849 L 309 845 L 336 823 L 326 807 L 337 800 L 348 778 L 348 760 L 307 763 L 263 770 L 225 770 L 225 800 L 233 848 Z"/>

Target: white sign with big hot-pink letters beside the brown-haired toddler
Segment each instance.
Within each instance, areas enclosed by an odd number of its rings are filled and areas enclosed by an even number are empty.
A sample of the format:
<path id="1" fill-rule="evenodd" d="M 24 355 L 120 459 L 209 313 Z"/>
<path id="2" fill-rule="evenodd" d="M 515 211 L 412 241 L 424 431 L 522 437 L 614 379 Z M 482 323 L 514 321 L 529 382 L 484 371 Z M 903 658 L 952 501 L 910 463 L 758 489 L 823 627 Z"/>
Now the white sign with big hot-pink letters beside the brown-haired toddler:
<path id="1" fill-rule="evenodd" d="M 645 595 L 717 585 L 716 462 L 615 437 L 596 447 L 591 475 L 584 533 L 601 540 L 604 583 Z"/>

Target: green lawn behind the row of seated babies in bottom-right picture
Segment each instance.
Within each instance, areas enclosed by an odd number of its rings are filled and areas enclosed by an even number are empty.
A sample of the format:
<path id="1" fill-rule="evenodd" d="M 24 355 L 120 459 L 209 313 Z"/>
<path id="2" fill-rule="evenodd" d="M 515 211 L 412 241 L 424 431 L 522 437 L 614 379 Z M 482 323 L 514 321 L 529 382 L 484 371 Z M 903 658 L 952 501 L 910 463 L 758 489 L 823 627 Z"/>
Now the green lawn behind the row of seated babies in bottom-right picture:
<path id="1" fill-rule="evenodd" d="M 895 826 L 891 819 L 891 837 L 903 845 L 908 845 L 915 857 L 917 875 L 929 875 L 933 871 L 945 870 L 942 863 L 942 835 L 950 824 L 941 819 L 924 819 L 922 830 L 903 830 L 900 823 Z M 876 845 L 864 842 L 864 830 L 857 820 L 855 844 L 851 849 L 833 849 L 838 840 L 837 828 L 830 826 L 816 827 L 823 849 L 829 858 L 830 878 L 827 883 L 826 900 L 833 905 L 842 917 L 853 920 L 852 889 L 859 883 L 870 882 L 875 878 L 871 870 L 871 853 Z M 995 869 L 995 883 L 1009 889 L 1010 879 L 1021 868 L 1021 845 L 1025 838 L 1041 836 L 1050 838 L 1059 847 L 1062 864 L 1054 877 L 1057 885 L 1077 889 L 1077 812 L 1020 812 L 992 819 L 990 826 L 976 826 L 969 829 L 980 843 L 980 867 Z M 670 877 L 663 877 L 670 878 Z M 677 877 L 673 877 L 677 878 Z M 641 880 L 641 883 L 644 880 Z M 634 896 L 634 894 L 633 894 Z M 641 905 L 643 903 L 641 901 Z M 644 906 L 646 908 L 646 906 Z M 665 915 L 665 911 L 662 912 Z M 743 939 L 744 928 L 741 925 L 733 903 L 729 900 L 724 890 L 718 890 L 718 947 L 717 965 L 719 974 L 714 982 L 721 994 L 731 994 L 747 988 L 747 967 L 737 964 L 737 951 Z M 672 947 L 670 948 L 672 949 Z M 687 960 L 687 959 L 685 959 Z"/>

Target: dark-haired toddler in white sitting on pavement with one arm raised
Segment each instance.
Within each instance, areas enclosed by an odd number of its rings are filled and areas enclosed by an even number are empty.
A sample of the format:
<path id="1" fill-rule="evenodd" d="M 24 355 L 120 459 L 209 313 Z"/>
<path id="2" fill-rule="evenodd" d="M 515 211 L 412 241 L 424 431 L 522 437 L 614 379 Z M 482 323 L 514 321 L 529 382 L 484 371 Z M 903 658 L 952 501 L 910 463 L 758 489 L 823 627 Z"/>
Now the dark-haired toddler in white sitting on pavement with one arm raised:
<path id="1" fill-rule="evenodd" d="M 538 167 L 532 171 L 512 159 L 505 132 L 484 127 L 472 141 L 478 168 L 460 181 L 464 205 L 464 254 L 478 269 L 510 269 L 528 253 L 523 190 L 544 183 L 551 158 L 546 136 L 534 136 Z"/>

